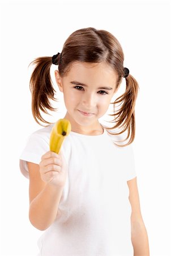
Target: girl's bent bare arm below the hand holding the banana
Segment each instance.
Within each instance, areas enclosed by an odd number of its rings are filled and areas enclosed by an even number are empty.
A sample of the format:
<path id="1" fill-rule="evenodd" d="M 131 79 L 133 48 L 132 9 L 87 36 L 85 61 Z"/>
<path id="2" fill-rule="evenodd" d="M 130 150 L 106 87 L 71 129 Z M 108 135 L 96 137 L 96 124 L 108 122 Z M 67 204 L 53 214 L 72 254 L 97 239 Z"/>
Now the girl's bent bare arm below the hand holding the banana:
<path id="1" fill-rule="evenodd" d="M 29 220 L 35 228 L 45 230 L 57 216 L 63 187 L 42 181 L 39 164 L 27 163 L 29 170 Z"/>

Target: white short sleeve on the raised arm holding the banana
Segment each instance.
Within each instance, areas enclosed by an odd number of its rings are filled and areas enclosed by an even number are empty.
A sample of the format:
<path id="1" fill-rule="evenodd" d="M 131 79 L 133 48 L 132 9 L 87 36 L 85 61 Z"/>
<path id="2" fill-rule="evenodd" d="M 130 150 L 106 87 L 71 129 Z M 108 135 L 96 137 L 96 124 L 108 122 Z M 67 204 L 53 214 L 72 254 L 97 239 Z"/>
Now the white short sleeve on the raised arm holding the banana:
<path id="1" fill-rule="evenodd" d="M 49 143 L 40 134 L 33 133 L 27 138 L 22 154 L 20 155 L 20 171 L 29 179 L 27 162 L 39 164 L 41 156 L 49 151 Z"/>

